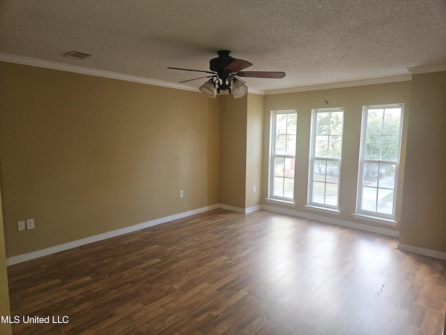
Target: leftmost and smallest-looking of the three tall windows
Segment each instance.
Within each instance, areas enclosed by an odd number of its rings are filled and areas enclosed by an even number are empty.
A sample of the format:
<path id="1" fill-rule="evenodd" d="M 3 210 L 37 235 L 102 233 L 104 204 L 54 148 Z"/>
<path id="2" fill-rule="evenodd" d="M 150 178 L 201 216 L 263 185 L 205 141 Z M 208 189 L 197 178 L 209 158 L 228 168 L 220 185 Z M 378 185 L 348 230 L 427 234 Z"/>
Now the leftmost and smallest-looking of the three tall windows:
<path id="1" fill-rule="evenodd" d="M 269 198 L 284 201 L 294 200 L 297 131 L 298 112 L 296 110 L 271 112 Z"/>

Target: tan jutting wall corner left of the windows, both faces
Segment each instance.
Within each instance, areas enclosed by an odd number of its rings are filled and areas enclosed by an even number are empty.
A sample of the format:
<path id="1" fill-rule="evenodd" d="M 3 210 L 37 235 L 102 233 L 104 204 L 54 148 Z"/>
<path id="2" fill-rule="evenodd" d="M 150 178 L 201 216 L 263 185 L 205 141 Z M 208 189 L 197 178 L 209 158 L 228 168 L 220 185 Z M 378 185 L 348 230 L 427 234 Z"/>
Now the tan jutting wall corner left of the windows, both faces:
<path id="1" fill-rule="evenodd" d="M 220 203 L 224 205 L 246 209 L 261 204 L 263 103 L 264 97 L 257 94 L 220 97 Z"/>

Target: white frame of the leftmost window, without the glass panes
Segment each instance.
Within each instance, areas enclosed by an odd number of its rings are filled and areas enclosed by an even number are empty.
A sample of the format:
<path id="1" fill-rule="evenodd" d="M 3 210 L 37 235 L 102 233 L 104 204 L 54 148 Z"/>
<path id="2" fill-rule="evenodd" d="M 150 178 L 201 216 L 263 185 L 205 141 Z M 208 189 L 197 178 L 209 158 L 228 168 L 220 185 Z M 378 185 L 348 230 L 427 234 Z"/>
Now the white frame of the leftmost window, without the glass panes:
<path id="1" fill-rule="evenodd" d="M 274 179 L 275 179 L 275 158 L 282 157 L 282 158 L 292 158 L 295 161 L 296 151 L 297 151 L 297 125 L 296 125 L 296 144 L 295 144 L 295 151 L 294 154 L 276 154 L 276 120 L 278 114 L 295 114 L 296 118 L 298 117 L 298 111 L 297 110 L 272 110 L 271 111 L 271 117 L 270 117 L 270 160 L 269 160 L 269 167 L 268 167 L 268 198 L 267 200 L 273 200 L 273 201 L 279 201 L 284 202 L 288 204 L 294 204 L 294 194 L 295 194 L 295 168 L 293 170 L 293 198 L 286 198 L 281 197 L 278 195 L 274 195 Z"/>

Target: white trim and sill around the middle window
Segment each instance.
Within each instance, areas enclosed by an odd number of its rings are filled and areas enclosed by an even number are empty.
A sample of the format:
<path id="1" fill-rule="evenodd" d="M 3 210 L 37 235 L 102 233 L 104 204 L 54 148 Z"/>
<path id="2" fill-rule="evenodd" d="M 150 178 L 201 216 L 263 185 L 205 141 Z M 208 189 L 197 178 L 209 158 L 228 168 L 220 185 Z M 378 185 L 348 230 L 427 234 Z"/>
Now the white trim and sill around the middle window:
<path id="1" fill-rule="evenodd" d="M 341 156 L 339 158 L 332 157 L 318 157 L 316 156 L 316 120 L 317 114 L 319 112 L 342 112 L 342 135 L 341 135 Z M 309 144 L 309 169 L 308 169 L 308 191 L 307 191 L 307 205 L 306 209 L 318 209 L 319 211 L 323 211 L 323 209 L 328 210 L 329 213 L 336 213 L 339 215 L 339 195 L 340 195 L 340 186 L 341 186 L 341 161 L 342 161 L 342 147 L 344 144 L 344 112 L 345 107 L 330 107 L 330 108 L 315 108 L 312 109 L 312 119 L 311 119 L 311 128 L 310 128 L 310 144 Z M 337 191 L 337 206 L 333 206 L 331 204 L 321 204 L 319 202 L 313 202 L 313 176 L 314 176 L 314 161 L 317 160 L 325 160 L 334 161 L 339 163 L 339 172 L 338 172 L 338 191 Z M 326 181 L 325 181 L 325 184 Z"/>

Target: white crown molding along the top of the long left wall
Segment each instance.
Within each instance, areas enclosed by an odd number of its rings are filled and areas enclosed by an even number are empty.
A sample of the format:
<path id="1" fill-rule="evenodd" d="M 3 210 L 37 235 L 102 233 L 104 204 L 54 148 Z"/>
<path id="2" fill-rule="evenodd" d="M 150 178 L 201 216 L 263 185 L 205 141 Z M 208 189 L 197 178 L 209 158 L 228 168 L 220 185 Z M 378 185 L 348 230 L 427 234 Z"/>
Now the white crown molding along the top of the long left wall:
<path id="1" fill-rule="evenodd" d="M 173 82 L 164 82 L 162 80 L 149 79 L 138 77 L 136 75 L 125 75 L 123 73 L 109 72 L 105 70 L 95 70 L 94 68 L 83 68 L 82 66 L 75 66 L 70 64 L 56 63 L 54 61 L 44 61 L 42 59 L 33 59 L 29 57 L 16 56 L 14 54 L 0 53 L 0 61 L 8 63 L 37 66 L 39 68 L 50 68 L 52 70 L 61 70 L 73 73 L 80 73 L 82 75 L 94 75 L 96 77 L 105 77 L 117 80 L 125 80 L 127 82 L 139 82 L 140 84 L 155 85 L 160 87 L 169 87 L 171 89 L 183 89 L 185 91 L 199 92 L 197 87 L 191 87 L 184 84 L 176 84 Z"/>

